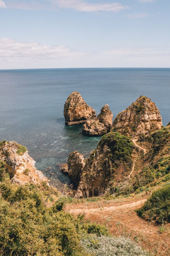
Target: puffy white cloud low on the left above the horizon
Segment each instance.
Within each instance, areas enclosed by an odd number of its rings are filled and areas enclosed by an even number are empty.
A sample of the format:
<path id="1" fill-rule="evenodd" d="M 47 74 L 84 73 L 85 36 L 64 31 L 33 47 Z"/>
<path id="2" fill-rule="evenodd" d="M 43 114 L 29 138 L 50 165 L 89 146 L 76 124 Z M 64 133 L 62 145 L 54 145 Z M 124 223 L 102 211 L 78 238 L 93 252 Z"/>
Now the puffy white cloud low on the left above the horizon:
<path id="1" fill-rule="evenodd" d="M 59 45 L 43 45 L 36 42 L 17 42 L 13 39 L 0 38 L 0 58 L 6 60 L 57 59 L 68 57 L 81 57 L 87 52 L 71 50 L 69 47 Z"/>

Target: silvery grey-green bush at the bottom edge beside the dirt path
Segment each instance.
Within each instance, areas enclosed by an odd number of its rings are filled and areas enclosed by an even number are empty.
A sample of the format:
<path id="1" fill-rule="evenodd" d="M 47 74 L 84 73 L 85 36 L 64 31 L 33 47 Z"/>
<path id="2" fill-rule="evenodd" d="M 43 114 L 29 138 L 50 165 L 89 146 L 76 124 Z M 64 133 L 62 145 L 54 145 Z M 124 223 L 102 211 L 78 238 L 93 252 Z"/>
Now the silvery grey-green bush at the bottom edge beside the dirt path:
<path id="1" fill-rule="evenodd" d="M 95 256 L 147 256 L 136 243 L 123 237 L 97 237 L 91 235 L 82 238 L 82 247 Z"/>

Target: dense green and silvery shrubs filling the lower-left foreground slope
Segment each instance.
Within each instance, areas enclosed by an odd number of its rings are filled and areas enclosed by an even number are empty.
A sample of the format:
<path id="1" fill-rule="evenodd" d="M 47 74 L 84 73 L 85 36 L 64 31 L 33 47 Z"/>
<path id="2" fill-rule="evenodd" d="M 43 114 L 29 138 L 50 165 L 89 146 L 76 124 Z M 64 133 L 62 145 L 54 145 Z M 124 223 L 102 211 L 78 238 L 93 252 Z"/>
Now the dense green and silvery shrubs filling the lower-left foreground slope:
<path id="1" fill-rule="evenodd" d="M 65 212 L 62 197 L 45 183 L 11 184 L 3 161 L 0 181 L 0 255 L 147 255 L 134 242 L 111 237 L 105 226 Z M 49 206 L 51 196 L 55 201 Z M 104 254 L 101 243 L 105 244 Z"/>

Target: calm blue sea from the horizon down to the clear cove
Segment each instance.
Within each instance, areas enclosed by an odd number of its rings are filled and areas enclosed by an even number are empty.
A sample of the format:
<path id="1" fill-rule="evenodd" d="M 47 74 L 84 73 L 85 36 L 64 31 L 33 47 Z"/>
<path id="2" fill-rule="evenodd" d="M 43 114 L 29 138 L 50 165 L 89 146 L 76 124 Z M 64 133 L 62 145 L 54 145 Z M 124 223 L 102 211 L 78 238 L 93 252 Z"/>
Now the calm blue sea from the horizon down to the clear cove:
<path id="1" fill-rule="evenodd" d="M 65 125 L 64 103 L 72 91 L 97 113 L 109 104 L 114 118 L 140 95 L 147 96 L 158 106 L 163 125 L 170 121 L 170 69 L 0 70 L 0 140 L 25 145 L 56 186 L 69 182 L 60 171 L 69 153 L 88 157 L 100 139 L 84 136 L 82 125 Z"/>

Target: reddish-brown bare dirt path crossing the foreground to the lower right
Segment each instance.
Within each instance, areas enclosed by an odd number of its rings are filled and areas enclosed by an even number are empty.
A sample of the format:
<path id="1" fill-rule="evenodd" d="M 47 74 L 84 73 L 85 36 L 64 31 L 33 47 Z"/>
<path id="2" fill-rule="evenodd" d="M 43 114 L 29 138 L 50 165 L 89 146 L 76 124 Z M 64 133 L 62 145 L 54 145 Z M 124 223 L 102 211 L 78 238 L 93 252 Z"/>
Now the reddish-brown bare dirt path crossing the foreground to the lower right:
<path id="1" fill-rule="evenodd" d="M 105 224 L 115 236 L 130 237 L 153 255 L 167 256 L 170 246 L 167 231 L 158 234 L 157 226 L 141 219 L 135 212 L 147 200 L 147 196 L 67 204 L 65 210 L 75 215 L 85 214 L 86 219 Z"/>

